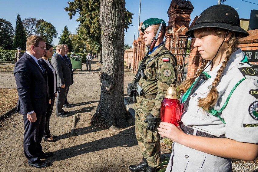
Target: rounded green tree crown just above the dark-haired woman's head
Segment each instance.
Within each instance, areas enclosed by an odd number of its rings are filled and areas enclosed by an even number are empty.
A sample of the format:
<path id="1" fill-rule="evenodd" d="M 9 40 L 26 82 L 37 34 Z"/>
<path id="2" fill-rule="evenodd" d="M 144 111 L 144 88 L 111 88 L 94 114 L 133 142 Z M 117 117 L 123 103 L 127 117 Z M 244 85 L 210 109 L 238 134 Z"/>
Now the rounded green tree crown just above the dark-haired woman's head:
<path id="1" fill-rule="evenodd" d="M 49 44 L 51 44 L 54 38 L 57 37 L 57 31 L 55 30 L 55 27 L 51 23 L 42 19 L 37 21 L 35 31 L 36 35 L 44 38 Z"/>

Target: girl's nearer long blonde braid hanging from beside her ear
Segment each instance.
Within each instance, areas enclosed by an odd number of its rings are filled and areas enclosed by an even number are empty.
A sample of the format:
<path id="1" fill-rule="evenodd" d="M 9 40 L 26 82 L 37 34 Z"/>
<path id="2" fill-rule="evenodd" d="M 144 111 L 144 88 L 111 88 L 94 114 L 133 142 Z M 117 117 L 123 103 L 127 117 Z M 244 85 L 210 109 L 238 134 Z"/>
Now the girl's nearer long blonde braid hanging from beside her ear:
<path id="1" fill-rule="evenodd" d="M 203 110 L 208 111 L 210 107 L 213 107 L 216 104 L 217 98 L 218 98 L 218 91 L 217 91 L 216 85 L 220 81 L 221 74 L 227 65 L 230 55 L 232 54 L 232 52 L 236 51 L 237 45 L 238 45 L 238 39 L 235 37 L 235 34 L 232 33 L 232 36 L 230 37 L 227 43 L 227 52 L 226 52 L 225 61 L 222 62 L 222 65 L 217 72 L 216 78 L 212 82 L 212 88 L 210 89 L 206 98 L 201 98 L 198 101 L 198 106 L 202 107 Z"/>

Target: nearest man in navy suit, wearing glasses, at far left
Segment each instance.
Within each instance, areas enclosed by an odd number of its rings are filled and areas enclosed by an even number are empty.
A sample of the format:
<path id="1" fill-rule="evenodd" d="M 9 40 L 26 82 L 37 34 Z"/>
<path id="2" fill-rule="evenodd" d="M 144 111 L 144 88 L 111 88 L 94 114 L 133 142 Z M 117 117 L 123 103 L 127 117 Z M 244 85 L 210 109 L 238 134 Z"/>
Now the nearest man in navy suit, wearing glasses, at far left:
<path id="1" fill-rule="evenodd" d="M 46 53 L 45 40 L 31 35 L 27 38 L 26 52 L 16 62 L 14 76 L 18 91 L 17 112 L 23 114 L 23 149 L 28 164 L 37 168 L 47 167 L 42 158 L 50 157 L 53 152 L 42 151 L 41 140 L 44 133 L 48 107 L 48 84 L 45 68 L 39 58 Z"/>

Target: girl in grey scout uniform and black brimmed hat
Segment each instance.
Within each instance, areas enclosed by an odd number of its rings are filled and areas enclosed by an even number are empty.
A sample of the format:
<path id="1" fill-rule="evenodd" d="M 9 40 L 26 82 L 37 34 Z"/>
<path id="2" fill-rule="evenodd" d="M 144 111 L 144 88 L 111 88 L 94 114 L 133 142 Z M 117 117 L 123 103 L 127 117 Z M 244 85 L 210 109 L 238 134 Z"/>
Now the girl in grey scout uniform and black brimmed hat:
<path id="1" fill-rule="evenodd" d="M 166 172 L 232 171 L 231 158 L 257 157 L 258 76 L 237 48 L 249 35 L 239 24 L 235 9 L 214 5 L 186 32 L 209 63 L 180 85 L 180 126 L 157 128 L 174 141 Z"/>

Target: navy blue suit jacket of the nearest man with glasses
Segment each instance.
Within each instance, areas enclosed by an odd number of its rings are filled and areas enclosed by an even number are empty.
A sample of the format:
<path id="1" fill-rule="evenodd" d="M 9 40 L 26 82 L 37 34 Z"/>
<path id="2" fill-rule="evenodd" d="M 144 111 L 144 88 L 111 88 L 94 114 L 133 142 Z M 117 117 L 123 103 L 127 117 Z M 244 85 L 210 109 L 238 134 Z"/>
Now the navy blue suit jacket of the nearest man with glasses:
<path id="1" fill-rule="evenodd" d="M 18 91 L 17 112 L 41 114 L 48 108 L 47 75 L 26 52 L 15 63 L 14 76 Z"/>

